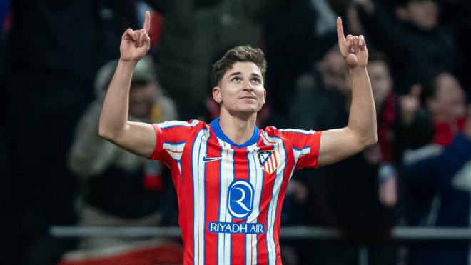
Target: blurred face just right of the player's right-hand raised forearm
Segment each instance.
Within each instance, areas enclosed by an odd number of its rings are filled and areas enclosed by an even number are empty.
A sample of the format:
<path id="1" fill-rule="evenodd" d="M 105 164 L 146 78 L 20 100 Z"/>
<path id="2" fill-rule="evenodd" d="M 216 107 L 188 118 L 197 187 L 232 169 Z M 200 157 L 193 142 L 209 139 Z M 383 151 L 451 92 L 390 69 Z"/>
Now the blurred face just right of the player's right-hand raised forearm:
<path id="1" fill-rule="evenodd" d="M 368 63 L 368 75 L 373 89 L 375 106 L 381 109 L 386 97 L 393 89 L 393 79 L 391 79 L 388 64 L 380 60 L 370 61 Z"/>

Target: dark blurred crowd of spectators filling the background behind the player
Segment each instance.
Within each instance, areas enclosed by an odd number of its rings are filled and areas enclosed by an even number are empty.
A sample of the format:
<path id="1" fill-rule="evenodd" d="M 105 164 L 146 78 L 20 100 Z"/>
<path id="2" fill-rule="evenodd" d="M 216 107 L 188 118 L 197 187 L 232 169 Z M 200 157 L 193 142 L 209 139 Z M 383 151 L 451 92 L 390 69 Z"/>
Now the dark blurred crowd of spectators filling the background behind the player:
<path id="1" fill-rule="evenodd" d="M 295 172 L 283 225 L 333 227 L 345 240 L 282 239 L 283 263 L 357 264 L 366 244 L 370 264 L 471 264 L 469 241 L 390 236 L 395 226 L 471 227 L 471 1 L 0 0 L 1 264 L 182 262 L 176 239 L 49 234 L 178 225 L 166 166 L 98 136 L 121 35 L 141 28 L 145 10 L 151 51 L 131 81 L 130 119 L 210 122 L 211 64 L 250 44 L 268 62 L 258 126 L 315 131 L 348 123 L 341 16 L 368 45 L 378 144 Z"/>

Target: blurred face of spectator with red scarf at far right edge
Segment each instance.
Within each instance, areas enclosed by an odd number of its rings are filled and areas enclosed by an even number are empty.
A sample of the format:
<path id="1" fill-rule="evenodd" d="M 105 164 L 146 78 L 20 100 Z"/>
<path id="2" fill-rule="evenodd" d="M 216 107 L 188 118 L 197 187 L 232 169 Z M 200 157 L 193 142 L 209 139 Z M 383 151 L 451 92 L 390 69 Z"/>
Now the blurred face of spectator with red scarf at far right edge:
<path id="1" fill-rule="evenodd" d="M 455 76 L 442 73 L 435 79 L 435 97 L 427 101 L 435 121 L 451 121 L 466 114 L 466 94 Z"/>

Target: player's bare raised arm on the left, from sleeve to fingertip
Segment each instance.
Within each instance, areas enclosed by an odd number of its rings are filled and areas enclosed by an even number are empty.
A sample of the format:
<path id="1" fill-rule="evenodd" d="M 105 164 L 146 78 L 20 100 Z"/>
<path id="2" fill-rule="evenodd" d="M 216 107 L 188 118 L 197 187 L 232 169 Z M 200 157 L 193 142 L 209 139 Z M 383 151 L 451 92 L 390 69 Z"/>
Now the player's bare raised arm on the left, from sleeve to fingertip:
<path id="1" fill-rule="evenodd" d="M 121 38 L 121 57 L 106 92 L 98 129 L 104 139 L 147 158 L 156 145 L 156 134 L 151 124 L 128 121 L 128 108 L 134 67 L 150 48 L 150 20 L 151 14 L 146 11 L 143 29 L 127 29 Z"/>

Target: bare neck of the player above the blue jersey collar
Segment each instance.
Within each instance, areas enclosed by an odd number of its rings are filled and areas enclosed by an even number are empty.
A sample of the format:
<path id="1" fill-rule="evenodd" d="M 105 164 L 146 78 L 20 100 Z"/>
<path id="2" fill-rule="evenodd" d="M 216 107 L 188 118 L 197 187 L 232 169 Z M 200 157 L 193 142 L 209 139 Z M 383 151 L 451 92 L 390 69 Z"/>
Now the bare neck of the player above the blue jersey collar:
<path id="1" fill-rule="evenodd" d="M 245 119 L 221 110 L 219 126 L 228 139 L 235 144 L 245 144 L 253 136 L 256 119 L 256 113 Z"/>

